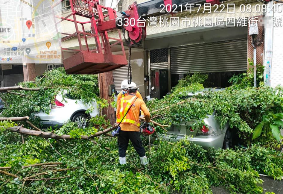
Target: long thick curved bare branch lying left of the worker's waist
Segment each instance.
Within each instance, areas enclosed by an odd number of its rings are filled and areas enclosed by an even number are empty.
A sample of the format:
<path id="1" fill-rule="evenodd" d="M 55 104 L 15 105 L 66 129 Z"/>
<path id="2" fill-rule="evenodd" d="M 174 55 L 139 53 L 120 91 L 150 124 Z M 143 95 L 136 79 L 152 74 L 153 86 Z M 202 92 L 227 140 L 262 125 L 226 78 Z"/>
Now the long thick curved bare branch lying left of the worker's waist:
<path id="1" fill-rule="evenodd" d="M 117 125 L 114 125 L 113 127 L 104 129 L 103 131 L 98 131 L 95 134 L 90 135 L 90 136 L 81 135 L 80 138 L 77 138 L 77 137 L 72 137 L 71 138 L 70 135 L 57 135 L 57 134 L 54 134 L 52 132 L 35 131 L 35 130 L 24 128 L 22 126 L 20 126 L 20 127 L 9 127 L 9 128 L 6 128 L 6 130 L 7 131 L 12 131 L 12 132 L 17 132 L 17 133 L 20 133 L 20 134 L 25 134 L 25 135 L 43 137 L 45 139 L 51 138 L 51 139 L 55 139 L 55 140 L 75 140 L 75 139 L 87 140 L 89 138 L 97 137 L 97 136 L 105 134 L 105 133 L 107 133 L 109 131 L 112 131 L 113 129 L 116 128 L 116 126 Z"/>

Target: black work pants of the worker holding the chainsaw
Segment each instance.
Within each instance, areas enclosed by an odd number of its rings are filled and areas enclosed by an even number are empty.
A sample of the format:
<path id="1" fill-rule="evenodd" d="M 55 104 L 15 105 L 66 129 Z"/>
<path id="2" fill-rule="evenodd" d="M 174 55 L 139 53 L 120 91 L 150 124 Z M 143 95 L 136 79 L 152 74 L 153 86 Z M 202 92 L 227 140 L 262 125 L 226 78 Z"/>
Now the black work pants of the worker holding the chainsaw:
<path id="1" fill-rule="evenodd" d="M 119 131 L 118 136 L 118 147 L 119 147 L 119 157 L 126 157 L 126 151 L 129 145 L 129 140 L 131 140 L 134 148 L 140 157 L 145 156 L 145 150 L 142 146 L 141 136 L 139 131 Z"/>

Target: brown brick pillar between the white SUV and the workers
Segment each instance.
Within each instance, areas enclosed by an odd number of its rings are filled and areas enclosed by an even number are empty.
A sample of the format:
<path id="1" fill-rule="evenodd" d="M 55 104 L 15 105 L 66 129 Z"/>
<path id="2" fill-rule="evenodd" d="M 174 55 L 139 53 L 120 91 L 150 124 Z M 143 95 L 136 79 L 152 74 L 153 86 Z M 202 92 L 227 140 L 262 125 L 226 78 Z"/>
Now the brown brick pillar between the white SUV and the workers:
<path id="1" fill-rule="evenodd" d="M 100 86 L 100 97 L 104 99 L 110 99 L 111 96 L 108 95 L 108 85 L 114 84 L 113 74 L 111 72 L 105 72 L 99 74 L 99 86 Z M 106 115 L 106 119 L 110 119 L 111 124 L 115 123 L 115 112 L 112 106 L 104 108 L 102 114 Z"/>

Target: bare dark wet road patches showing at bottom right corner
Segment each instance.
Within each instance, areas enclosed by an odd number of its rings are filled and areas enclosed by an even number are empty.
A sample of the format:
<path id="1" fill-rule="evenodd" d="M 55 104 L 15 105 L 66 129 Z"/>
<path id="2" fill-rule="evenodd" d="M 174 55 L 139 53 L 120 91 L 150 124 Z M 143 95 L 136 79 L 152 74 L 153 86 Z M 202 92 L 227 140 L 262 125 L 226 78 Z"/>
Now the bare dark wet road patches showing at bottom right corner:
<path id="1" fill-rule="evenodd" d="M 283 194 L 283 180 L 276 181 L 266 176 L 261 176 L 260 178 L 264 181 L 262 185 L 263 193 L 268 191 L 275 194 Z M 213 194 L 230 194 L 224 187 L 212 187 L 212 191 Z"/>

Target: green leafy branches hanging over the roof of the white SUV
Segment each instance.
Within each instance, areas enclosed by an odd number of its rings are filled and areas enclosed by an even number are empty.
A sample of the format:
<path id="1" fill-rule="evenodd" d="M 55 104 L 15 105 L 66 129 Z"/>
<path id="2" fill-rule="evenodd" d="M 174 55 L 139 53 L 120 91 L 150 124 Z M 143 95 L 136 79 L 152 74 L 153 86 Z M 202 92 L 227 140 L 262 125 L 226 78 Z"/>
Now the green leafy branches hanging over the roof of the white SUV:
<path id="1" fill-rule="evenodd" d="M 13 91 L 27 95 L 12 95 L 4 93 L 3 100 L 7 107 L 2 116 L 32 116 L 34 113 L 50 112 L 50 103 L 54 96 L 61 94 L 63 98 L 81 99 L 86 104 L 98 99 L 97 75 L 67 75 L 64 68 L 53 69 L 45 72 L 43 77 L 36 77 L 34 82 L 19 83 L 23 87 L 39 88 L 39 91 Z"/>

